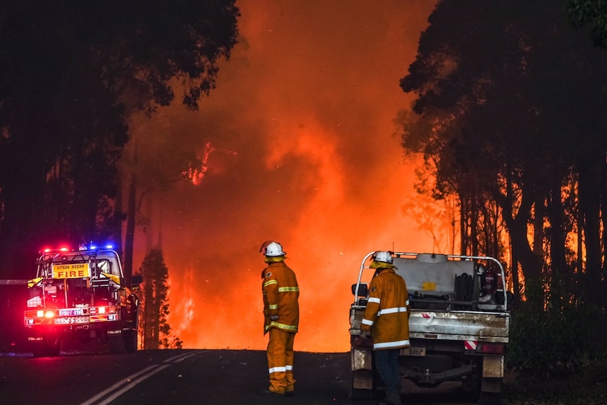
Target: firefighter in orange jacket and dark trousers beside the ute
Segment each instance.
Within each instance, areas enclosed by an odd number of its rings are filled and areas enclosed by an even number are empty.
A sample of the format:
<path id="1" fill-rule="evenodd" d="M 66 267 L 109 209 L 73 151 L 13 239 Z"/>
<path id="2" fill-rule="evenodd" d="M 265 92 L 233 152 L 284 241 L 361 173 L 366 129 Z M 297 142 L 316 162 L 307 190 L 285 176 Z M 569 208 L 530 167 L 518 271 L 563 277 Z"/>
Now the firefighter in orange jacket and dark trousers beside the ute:
<path id="1" fill-rule="evenodd" d="M 411 305 L 405 280 L 394 272 L 394 259 L 389 251 L 376 251 L 370 268 L 375 275 L 369 285 L 369 300 L 361 324 L 361 337 L 373 337 L 375 366 L 386 386 L 380 404 L 401 404 L 399 354 L 409 343 Z"/>

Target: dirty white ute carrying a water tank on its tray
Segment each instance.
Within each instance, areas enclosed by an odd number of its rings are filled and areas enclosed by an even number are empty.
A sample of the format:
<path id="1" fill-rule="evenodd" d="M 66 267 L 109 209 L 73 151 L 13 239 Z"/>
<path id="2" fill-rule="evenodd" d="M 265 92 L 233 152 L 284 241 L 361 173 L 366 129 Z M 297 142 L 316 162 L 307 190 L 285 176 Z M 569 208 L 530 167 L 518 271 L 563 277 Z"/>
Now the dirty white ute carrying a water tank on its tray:
<path id="1" fill-rule="evenodd" d="M 352 399 L 370 399 L 381 380 L 373 342 L 359 337 L 374 270 L 367 254 L 352 285 Z M 407 284 L 411 347 L 401 350 L 401 378 L 419 387 L 458 381 L 480 404 L 499 404 L 508 347 L 511 293 L 501 263 L 487 256 L 391 252 Z"/>

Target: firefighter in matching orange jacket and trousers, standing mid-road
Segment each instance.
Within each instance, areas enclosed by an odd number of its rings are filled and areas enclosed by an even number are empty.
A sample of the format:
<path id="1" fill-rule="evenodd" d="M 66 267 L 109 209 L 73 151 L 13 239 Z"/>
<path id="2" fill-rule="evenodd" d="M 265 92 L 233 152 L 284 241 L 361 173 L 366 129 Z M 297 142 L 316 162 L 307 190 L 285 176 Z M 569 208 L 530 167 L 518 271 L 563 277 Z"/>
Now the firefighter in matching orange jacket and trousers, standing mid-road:
<path id="1" fill-rule="evenodd" d="M 266 395 L 292 395 L 293 343 L 299 327 L 299 285 L 295 273 L 285 263 L 286 253 L 278 242 L 268 241 L 260 252 L 268 266 L 261 273 L 263 292 L 263 334 L 268 333 L 268 370 L 270 387 L 261 390 Z"/>

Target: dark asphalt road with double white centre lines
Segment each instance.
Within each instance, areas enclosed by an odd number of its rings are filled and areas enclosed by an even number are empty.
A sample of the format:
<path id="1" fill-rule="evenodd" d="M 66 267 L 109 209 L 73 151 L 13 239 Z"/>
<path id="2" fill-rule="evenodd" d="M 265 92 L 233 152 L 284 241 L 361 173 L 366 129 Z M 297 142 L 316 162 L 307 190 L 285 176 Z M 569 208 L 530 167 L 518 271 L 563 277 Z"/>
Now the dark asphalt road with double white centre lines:
<path id="1" fill-rule="evenodd" d="M 266 397 L 264 351 L 154 350 L 132 354 L 63 351 L 54 358 L 0 356 L 0 398 L 11 405 L 376 404 L 349 399 L 349 353 L 296 352 L 296 394 Z M 473 405 L 457 385 L 403 385 L 404 404 Z"/>

